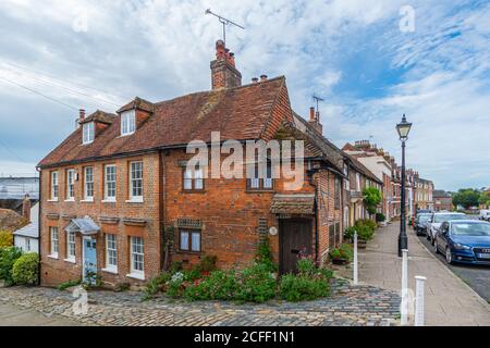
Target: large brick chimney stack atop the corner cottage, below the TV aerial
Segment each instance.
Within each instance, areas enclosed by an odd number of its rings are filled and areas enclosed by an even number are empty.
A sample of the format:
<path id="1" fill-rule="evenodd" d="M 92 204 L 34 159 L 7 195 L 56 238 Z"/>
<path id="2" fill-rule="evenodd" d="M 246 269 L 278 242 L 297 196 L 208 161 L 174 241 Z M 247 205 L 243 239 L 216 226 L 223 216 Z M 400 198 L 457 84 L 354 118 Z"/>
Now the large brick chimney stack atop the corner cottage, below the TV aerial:
<path id="1" fill-rule="evenodd" d="M 235 67 L 235 55 L 224 47 L 223 40 L 216 42 L 216 60 L 211 62 L 211 87 L 232 88 L 242 86 L 242 74 Z"/>

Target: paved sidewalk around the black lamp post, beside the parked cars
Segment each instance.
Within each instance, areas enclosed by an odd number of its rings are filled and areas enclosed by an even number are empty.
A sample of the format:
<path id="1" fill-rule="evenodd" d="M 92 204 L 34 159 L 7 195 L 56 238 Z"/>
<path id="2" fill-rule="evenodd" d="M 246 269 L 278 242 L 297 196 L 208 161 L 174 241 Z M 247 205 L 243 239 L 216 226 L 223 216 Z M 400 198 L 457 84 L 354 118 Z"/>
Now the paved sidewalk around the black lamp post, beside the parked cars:
<path id="1" fill-rule="evenodd" d="M 359 251 L 359 281 L 401 288 L 402 259 L 397 257 L 400 223 L 378 229 L 365 250 Z M 490 325 L 490 306 L 432 256 L 412 228 L 408 234 L 408 284 L 415 291 L 416 275 L 427 277 L 426 325 Z"/>

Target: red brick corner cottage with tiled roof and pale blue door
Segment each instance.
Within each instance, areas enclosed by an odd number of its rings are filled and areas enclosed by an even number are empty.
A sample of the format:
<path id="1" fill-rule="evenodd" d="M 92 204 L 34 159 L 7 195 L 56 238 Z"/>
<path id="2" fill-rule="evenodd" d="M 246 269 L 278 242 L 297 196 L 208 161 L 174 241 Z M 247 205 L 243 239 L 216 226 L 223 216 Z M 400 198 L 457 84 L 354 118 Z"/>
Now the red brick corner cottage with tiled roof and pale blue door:
<path id="1" fill-rule="evenodd" d="M 281 272 L 301 250 L 319 262 L 342 239 L 343 156 L 291 109 L 284 77 L 242 86 L 233 54 L 217 42 L 212 89 L 151 103 L 136 98 L 117 114 L 97 111 L 39 164 L 41 283 L 97 272 L 108 285 L 138 284 L 172 261 L 204 254 L 219 268 L 253 261 L 268 235 Z M 286 179 L 203 178 L 188 172 L 191 140 L 302 139 L 305 175 Z"/>

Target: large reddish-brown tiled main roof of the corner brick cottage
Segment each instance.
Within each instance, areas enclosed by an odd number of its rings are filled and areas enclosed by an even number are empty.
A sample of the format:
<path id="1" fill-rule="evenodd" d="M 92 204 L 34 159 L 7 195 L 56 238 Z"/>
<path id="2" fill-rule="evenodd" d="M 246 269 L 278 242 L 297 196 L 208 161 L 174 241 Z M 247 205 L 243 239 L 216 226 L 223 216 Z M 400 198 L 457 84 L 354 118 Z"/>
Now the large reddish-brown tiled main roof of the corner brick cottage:
<path id="1" fill-rule="evenodd" d="M 38 165 L 46 167 L 184 146 L 194 139 L 208 142 L 211 132 L 220 132 L 222 139 L 258 139 L 282 88 L 285 88 L 283 76 L 235 88 L 186 95 L 151 107 L 138 99 L 120 109 L 151 109 L 152 115 L 133 135 L 121 137 L 121 117 L 115 117 L 91 144 L 82 146 L 82 129 L 78 128 Z"/>

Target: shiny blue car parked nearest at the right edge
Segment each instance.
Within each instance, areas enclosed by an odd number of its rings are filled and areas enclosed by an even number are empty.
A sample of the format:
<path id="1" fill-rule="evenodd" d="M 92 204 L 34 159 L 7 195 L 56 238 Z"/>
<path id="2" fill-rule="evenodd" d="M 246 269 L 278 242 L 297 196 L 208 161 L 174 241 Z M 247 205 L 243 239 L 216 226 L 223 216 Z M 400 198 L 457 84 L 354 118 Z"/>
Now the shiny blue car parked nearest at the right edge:
<path id="1" fill-rule="evenodd" d="M 490 265 L 490 223 L 478 220 L 453 220 L 441 224 L 434 238 L 436 253 L 448 263 Z"/>

